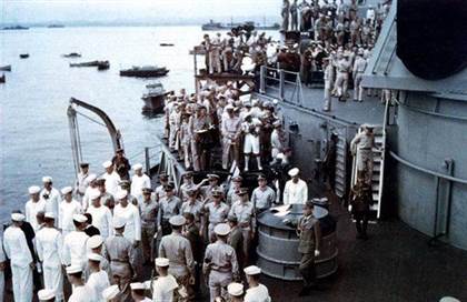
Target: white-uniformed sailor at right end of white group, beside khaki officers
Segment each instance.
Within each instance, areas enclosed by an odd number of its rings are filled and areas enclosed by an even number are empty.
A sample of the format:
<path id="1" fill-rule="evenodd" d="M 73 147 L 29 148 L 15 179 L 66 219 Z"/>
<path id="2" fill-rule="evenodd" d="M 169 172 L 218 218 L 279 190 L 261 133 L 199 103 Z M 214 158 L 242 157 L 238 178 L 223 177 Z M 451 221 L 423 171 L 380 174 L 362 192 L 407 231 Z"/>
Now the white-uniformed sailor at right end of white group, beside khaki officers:
<path id="1" fill-rule="evenodd" d="M 113 208 L 113 218 L 125 221 L 123 236 L 136 246 L 141 241 L 141 218 L 138 208 L 128 202 L 128 191 L 120 190 L 116 194 L 118 204 Z"/>

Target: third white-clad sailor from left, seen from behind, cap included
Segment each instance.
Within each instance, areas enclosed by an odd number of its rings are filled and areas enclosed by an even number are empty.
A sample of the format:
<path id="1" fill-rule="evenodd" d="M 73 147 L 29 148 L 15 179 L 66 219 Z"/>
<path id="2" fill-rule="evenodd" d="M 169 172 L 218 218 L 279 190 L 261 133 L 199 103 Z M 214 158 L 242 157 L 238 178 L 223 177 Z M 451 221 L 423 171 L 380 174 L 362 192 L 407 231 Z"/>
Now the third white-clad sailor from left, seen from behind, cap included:
<path id="1" fill-rule="evenodd" d="M 83 214 L 74 214 L 73 223 L 76 230 L 67 234 L 63 239 L 63 264 L 77 264 L 85 268 L 87 262 L 87 241 L 89 236 L 85 233 L 88 219 Z"/>

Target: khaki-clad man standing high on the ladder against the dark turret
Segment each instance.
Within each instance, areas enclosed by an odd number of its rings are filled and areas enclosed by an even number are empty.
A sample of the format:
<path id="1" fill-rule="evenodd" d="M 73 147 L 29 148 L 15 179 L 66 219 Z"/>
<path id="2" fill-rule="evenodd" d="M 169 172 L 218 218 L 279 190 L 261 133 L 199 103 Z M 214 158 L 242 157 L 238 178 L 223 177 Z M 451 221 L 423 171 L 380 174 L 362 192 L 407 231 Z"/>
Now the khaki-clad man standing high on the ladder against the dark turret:
<path id="1" fill-rule="evenodd" d="M 362 131 L 357 133 L 350 142 L 350 150 L 357 157 L 357 178 L 371 184 L 372 174 L 372 148 L 375 147 L 375 134 L 372 127 L 362 125 Z"/>

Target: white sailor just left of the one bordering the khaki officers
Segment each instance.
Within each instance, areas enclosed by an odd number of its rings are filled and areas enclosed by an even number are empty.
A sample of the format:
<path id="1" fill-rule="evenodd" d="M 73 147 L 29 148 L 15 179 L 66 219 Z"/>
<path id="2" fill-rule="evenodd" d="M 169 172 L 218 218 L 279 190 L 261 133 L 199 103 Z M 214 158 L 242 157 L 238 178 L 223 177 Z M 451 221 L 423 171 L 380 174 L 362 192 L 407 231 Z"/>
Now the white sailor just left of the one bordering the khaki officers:
<path id="1" fill-rule="evenodd" d="M 99 229 L 100 235 L 105 239 L 111 236 L 113 234 L 112 213 L 109 208 L 101 204 L 100 191 L 96 189 L 90 192 L 89 200 L 91 201 L 91 204 L 89 205 L 87 213 L 90 213 L 92 217 L 92 225 Z"/>

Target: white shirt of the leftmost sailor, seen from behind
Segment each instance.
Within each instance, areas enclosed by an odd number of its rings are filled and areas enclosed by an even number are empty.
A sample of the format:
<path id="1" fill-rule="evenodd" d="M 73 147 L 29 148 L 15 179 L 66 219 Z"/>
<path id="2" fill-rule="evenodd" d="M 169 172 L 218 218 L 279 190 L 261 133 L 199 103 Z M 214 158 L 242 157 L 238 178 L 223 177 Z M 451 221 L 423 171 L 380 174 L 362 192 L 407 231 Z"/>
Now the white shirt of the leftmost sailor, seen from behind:
<path id="1" fill-rule="evenodd" d="M 11 265 L 26 268 L 32 262 L 26 235 L 18 226 L 11 225 L 4 230 L 3 249 L 11 261 Z"/>

